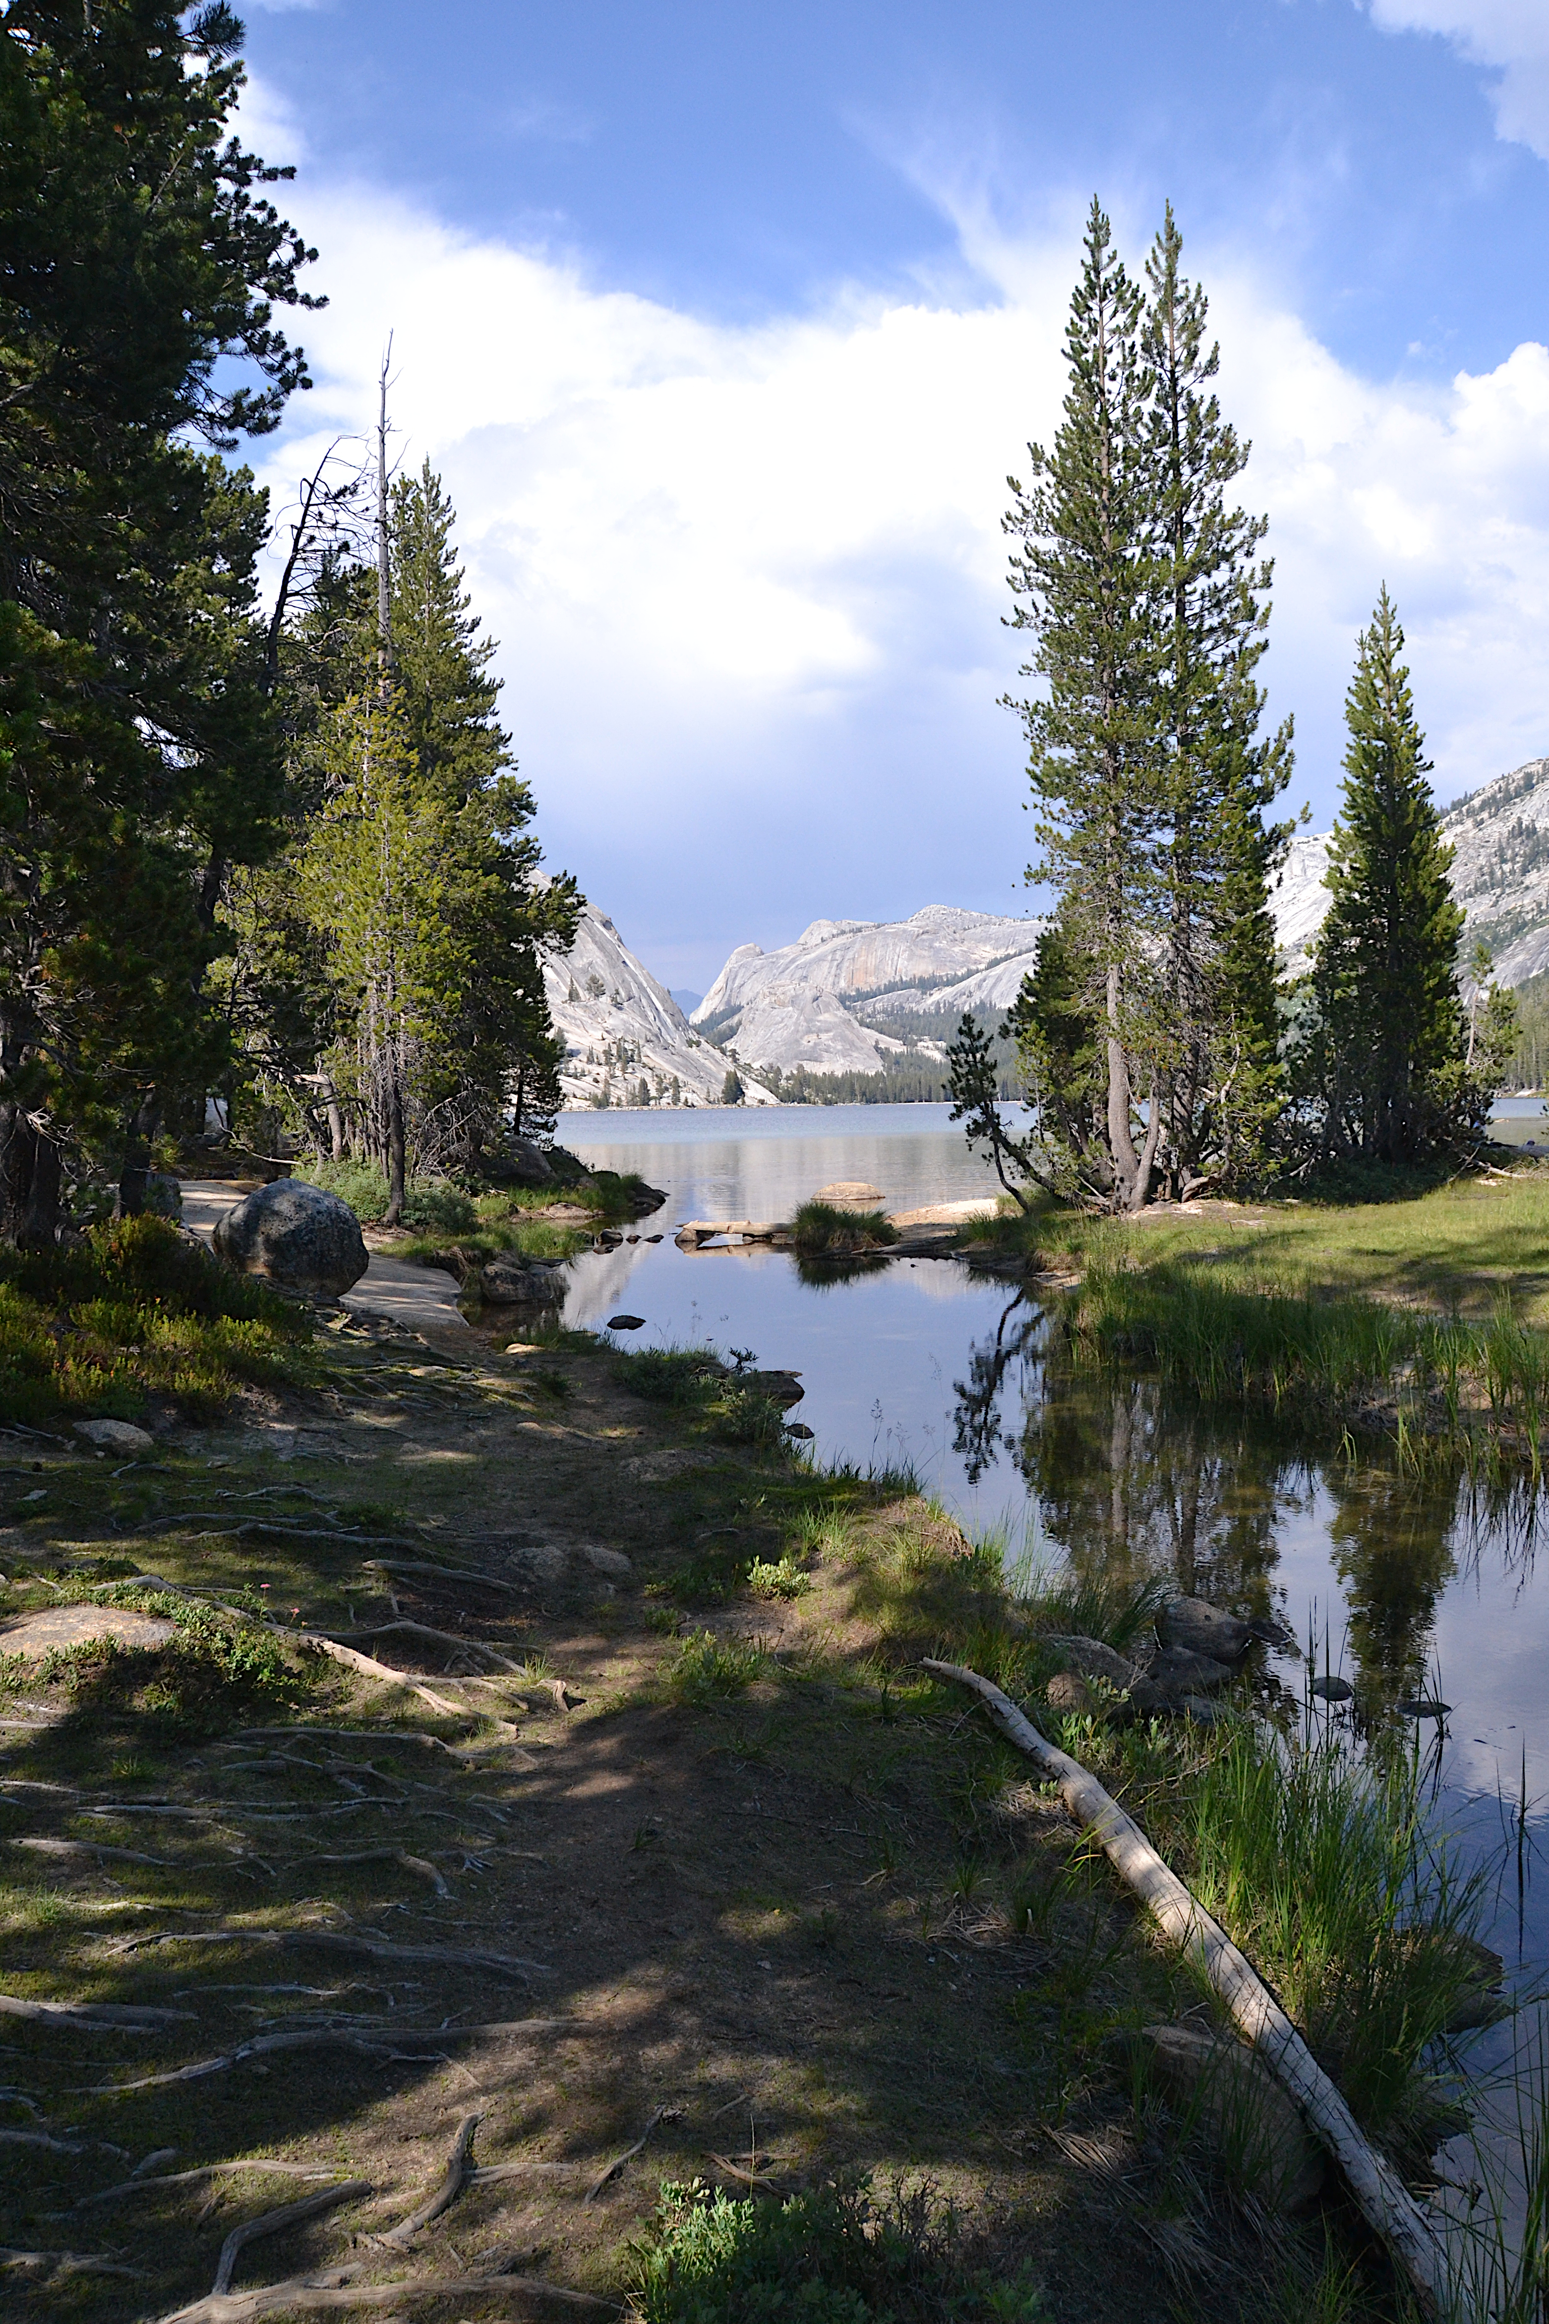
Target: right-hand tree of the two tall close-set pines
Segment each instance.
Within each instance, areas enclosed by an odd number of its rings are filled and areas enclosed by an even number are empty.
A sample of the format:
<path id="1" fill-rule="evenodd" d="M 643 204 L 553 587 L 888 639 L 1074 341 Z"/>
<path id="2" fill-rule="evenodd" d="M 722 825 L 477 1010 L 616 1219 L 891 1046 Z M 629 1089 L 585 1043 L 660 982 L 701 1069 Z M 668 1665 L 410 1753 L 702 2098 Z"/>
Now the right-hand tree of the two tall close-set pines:
<path id="1" fill-rule="evenodd" d="M 1291 776 L 1291 720 L 1259 739 L 1273 567 L 1254 551 L 1268 518 L 1229 502 L 1249 446 L 1222 418 L 1210 381 L 1208 300 L 1180 274 L 1168 202 L 1147 258 L 1143 349 L 1154 400 L 1150 467 L 1159 518 L 1159 748 L 1163 834 L 1161 1190 L 1238 1183 L 1261 1162 L 1277 1111 L 1275 927 L 1268 878 L 1289 825 L 1263 809 Z"/>

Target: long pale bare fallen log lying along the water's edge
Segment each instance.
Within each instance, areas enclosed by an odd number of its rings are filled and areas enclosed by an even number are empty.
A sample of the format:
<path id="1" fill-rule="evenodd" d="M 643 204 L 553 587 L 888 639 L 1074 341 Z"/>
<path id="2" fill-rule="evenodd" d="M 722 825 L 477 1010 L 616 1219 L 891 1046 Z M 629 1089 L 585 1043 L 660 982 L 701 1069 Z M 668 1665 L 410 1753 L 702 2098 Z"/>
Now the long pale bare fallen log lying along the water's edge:
<path id="1" fill-rule="evenodd" d="M 954 1678 L 959 1685 L 971 1687 L 989 1706 L 996 1724 L 1017 1750 L 1024 1750 L 1059 1785 L 1059 1796 L 1078 1824 L 1096 1834 L 1103 1855 L 1124 1885 L 1147 1906 L 1163 1936 L 1198 1961 L 1231 2010 L 1238 2031 L 1249 2038 L 1284 2089 L 1296 2099 L 1307 2117 L 1307 2126 L 1338 2161 L 1366 2222 L 1382 2236 L 1414 2284 L 1426 2312 L 1444 2315 L 1451 2275 L 1431 2222 L 1393 2166 L 1370 2145 L 1349 2106 L 1317 2064 L 1252 1961 L 1238 1952 L 1219 1922 L 1205 1913 L 1177 1873 L 1163 1864 L 1133 1817 L 1119 1808 L 1096 1776 L 1089 1776 L 1078 1759 L 1047 1743 L 1008 1694 L 1001 1694 L 978 1671 L 968 1671 L 957 1662 L 934 1662 L 927 1657 L 924 1669 L 934 1671 L 936 1678 Z"/>

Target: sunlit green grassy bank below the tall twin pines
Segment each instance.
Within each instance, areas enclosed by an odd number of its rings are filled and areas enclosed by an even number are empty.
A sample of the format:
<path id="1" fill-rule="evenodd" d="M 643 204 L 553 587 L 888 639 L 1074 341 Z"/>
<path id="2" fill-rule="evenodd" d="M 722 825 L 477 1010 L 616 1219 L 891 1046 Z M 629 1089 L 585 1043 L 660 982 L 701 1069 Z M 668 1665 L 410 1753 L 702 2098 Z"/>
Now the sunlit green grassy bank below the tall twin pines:
<path id="1" fill-rule="evenodd" d="M 1052 1278 L 1078 1367 L 1540 1473 L 1549 1174 L 1535 1167 L 1354 1208 L 987 1220 L 975 1241 Z"/>

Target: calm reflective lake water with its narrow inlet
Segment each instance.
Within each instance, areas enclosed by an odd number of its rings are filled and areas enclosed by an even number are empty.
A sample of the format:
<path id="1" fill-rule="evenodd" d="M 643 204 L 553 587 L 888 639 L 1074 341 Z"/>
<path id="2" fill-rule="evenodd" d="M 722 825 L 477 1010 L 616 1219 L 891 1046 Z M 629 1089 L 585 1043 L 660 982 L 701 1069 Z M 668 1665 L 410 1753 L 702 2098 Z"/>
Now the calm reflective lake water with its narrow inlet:
<path id="1" fill-rule="evenodd" d="M 576 1262 L 567 1322 L 597 1329 L 629 1311 L 646 1318 L 632 1346 L 711 1341 L 792 1367 L 817 1459 L 913 1464 L 968 1532 L 999 1529 L 1008 1557 L 1163 1571 L 1240 1613 L 1280 1615 L 1314 1641 L 1319 1671 L 1373 1706 L 1440 1694 L 1449 1717 L 1419 1724 L 1438 1815 L 1472 1862 L 1498 1866 L 1484 1934 L 1514 1980 L 1549 1978 L 1549 1534 L 1528 1499 L 1419 1487 L 1284 1429 L 1168 1411 L 1152 1380 L 1071 1383 L 1026 1292 L 954 1260 L 810 1283 L 764 1246 L 673 1246 L 680 1220 L 790 1218 L 836 1178 L 878 1185 L 889 1208 L 994 1192 L 945 1106 L 581 1113 L 557 1134 L 667 1190 L 641 1220 L 660 1243 Z M 1303 1657 L 1273 1671 L 1303 1697 Z M 1523 1787 L 1519 1889 L 1510 1836 Z M 1475 2057 L 1500 2066 L 1510 2050 L 1503 2027 Z"/>

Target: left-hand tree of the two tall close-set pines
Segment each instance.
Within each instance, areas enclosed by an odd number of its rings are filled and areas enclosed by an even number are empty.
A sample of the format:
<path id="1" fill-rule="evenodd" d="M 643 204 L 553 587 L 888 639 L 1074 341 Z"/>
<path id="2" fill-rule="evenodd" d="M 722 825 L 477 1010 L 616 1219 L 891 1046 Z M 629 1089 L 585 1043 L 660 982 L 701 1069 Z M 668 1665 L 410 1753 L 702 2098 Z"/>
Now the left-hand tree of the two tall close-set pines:
<path id="1" fill-rule="evenodd" d="M 1161 1109 L 1147 934 L 1157 925 L 1157 832 L 1166 811 L 1154 748 L 1154 511 L 1140 349 L 1143 300 L 1091 202 L 1066 325 L 1068 388 L 1054 449 L 1029 446 L 1033 486 L 1008 476 L 1006 530 L 1022 539 L 1015 625 L 1036 637 L 1020 709 L 1050 876 L 1061 895 L 1082 1002 L 1101 1016 L 1103 1143 L 1082 1169 L 1115 1211 L 1150 1195 Z M 1138 1088 L 1136 1088 L 1138 1083 Z M 1136 1148 L 1136 1099 L 1150 1120 Z"/>

